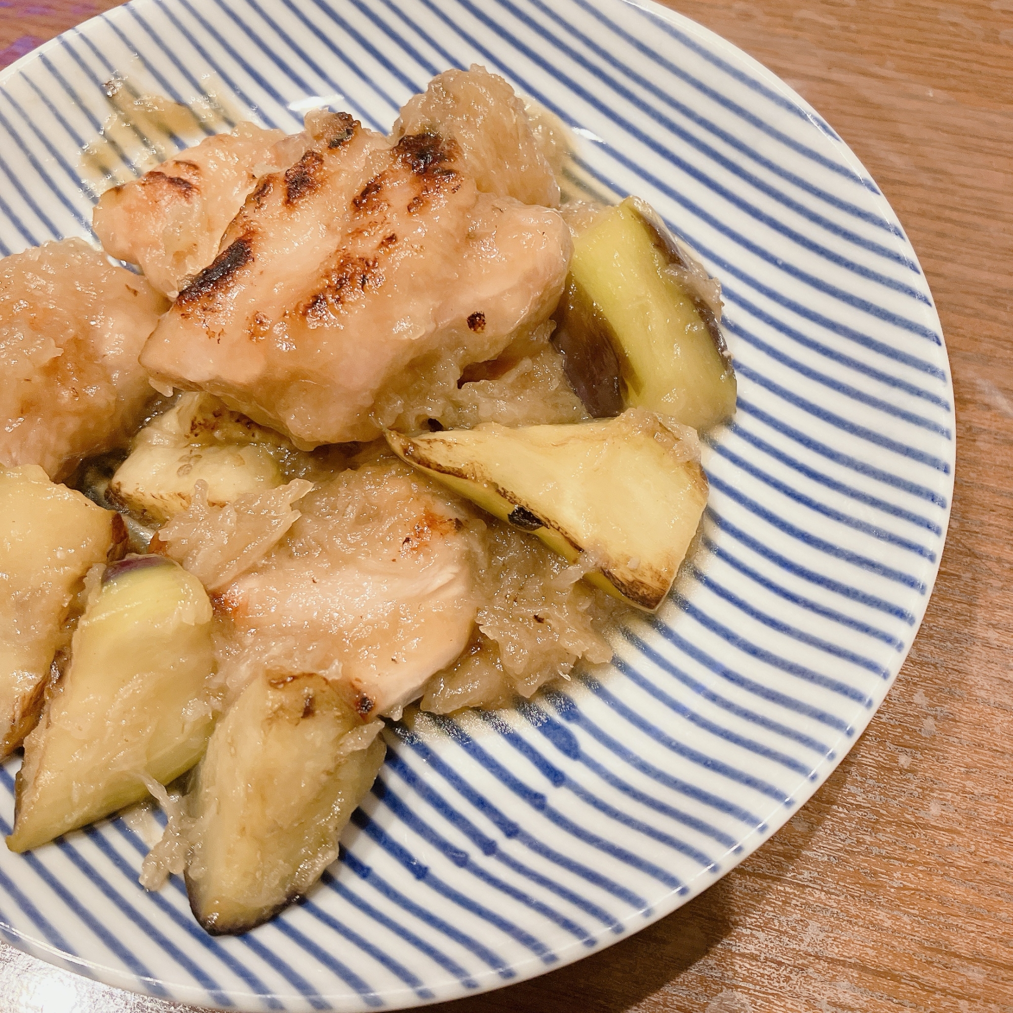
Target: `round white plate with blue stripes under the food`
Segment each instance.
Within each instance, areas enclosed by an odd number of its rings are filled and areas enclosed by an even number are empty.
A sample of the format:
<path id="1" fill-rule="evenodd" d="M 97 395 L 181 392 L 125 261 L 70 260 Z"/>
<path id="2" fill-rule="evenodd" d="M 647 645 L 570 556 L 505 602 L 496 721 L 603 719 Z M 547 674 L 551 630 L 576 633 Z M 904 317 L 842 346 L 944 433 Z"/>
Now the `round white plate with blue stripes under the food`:
<path id="1" fill-rule="evenodd" d="M 609 945 L 759 847 L 861 733 L 925 613 L 952 392 L 915 253 L 820 115 L 718 36 L 624 0 L 134 0 L 0 77 L 0 250 L 89 236 L 81 148 L 123 72 L 295 130 L 322 96 L 386 130 L 472 62 L 579 138 L 567 185 L 643 197 L 724 283 L 738 413 L 656 618 L 607 672 L 516 710 L 394 727 L 307 902 L 212 939 L 137 884 L 143 821 L 0 850 L 0 929 L 138 992 L 241 1010 L 396 1008 Z M 232 111 L 230 111 L 232 110 Z M 208 130 L 212 128 L 207 128 Z M 132 157 L 140 136 L 107 150 Z M 16 763 L 0 769 L 9 829 Z"/>

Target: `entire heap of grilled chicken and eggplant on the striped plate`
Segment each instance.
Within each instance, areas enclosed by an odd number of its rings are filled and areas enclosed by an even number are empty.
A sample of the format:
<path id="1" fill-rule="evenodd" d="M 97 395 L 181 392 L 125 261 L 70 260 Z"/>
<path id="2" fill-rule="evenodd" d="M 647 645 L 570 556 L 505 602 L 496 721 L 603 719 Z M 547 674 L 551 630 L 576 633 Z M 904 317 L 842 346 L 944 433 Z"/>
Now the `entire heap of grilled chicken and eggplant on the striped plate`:
<path id="1" fill-rule="evenodd" d="M 0 260 L 9 848 L 154 796 L 144 885 L 247 931 L 385 720 L 510 706 L 660 605 L 734 411 L 720 286 L 642 201 L 563 201 L 560 137 L 451 70 L 389 136 L 242 123 L 107 189 L 102 249 Z"/>

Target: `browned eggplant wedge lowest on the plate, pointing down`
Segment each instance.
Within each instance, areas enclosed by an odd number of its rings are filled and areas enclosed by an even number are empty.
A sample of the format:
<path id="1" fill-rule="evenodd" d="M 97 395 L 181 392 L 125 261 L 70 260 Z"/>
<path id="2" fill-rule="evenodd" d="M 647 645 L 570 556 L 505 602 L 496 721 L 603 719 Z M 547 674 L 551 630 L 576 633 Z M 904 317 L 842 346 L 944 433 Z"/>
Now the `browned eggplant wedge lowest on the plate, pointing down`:
<path id="1" fill-rule="evenodd" d="M 247 932 L 337 858 L 385 747 L 322 676 L 261 676 L 225 713 L 187 795 L 190 908 L 212 935 Z"/>

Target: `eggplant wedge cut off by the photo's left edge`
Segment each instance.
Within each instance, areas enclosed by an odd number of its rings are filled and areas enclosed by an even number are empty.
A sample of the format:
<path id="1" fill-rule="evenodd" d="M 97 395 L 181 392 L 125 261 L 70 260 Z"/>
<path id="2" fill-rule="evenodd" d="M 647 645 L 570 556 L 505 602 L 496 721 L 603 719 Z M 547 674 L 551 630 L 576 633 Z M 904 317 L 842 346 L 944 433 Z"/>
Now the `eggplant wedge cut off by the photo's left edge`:
<path id="1" fill-rule="evenodd" d="M 42 468 L 0 468 L 0 759 L 38 720 L 85 573 L 125 541 L 115 514 Z"/>

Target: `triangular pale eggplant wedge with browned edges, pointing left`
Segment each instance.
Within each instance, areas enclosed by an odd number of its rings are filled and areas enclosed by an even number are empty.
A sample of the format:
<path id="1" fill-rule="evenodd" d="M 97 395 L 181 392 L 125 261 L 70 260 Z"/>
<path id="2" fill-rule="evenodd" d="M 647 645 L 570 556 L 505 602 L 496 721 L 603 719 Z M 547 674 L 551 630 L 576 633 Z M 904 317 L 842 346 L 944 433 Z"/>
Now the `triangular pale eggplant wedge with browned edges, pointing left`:
<path id="1" fill-rule="evenodd" d="M 695 434 L 640 408 L 575 425 L 388 432 L 387 442 L 567 559 L 582 557 L 589 580 L 649 611 L 672 587 L 707 503 Z"/>

